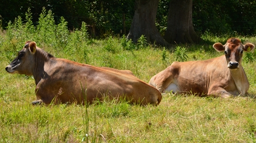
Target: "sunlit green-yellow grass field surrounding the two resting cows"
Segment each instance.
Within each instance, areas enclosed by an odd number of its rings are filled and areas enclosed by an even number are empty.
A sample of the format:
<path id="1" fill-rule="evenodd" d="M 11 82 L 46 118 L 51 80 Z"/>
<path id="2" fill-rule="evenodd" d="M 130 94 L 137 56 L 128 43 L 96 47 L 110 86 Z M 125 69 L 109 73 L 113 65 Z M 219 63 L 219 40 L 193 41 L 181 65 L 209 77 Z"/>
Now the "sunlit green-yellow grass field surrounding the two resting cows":
<path id="1" fill-rule="evenodd" d="M 167 93 L 157 107 L 117 101 L 88 107 L 32 106 L 33 77 L 5 71 L 24 42 L 32 40 L 55 57 L 131 70 L 148 82 L 175 60 L 204 60 L 224 54 L 212 45 L 225 44 L 230 36 L 205 34 L 202 44 L 164 49 L 144 45 L 143 38 L 138 45 L 119 36 L 95 40 L 85 34 L 83 39 L 82 29 L 68 34 L 65 28 L 64 34 L 56 32 L 55 36 L 61 35 L 56 38 L 49 29 L 31 33 L 13 26 L 0 33 L 0 142 L 256 142 L 255 50 L 245 54 L 242 63 L 250 83 L 249 95 L 222 99 Z M 255 37 L 237 37 L 243 44 L 256 44 Z M 177 47 L 187 59 L 177 54 Z"/>

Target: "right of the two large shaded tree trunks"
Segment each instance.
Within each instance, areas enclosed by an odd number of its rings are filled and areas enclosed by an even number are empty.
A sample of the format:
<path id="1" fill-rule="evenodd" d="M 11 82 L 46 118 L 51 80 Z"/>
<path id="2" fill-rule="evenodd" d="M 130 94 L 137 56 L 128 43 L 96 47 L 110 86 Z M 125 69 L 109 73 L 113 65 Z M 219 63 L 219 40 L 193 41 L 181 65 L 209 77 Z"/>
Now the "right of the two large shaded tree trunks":
<path id="1" fill-rule="evenodd" d="M 170 44 L 198 43 L 192 23 L 192 0 L 171 0 L 164 40 Z"/>

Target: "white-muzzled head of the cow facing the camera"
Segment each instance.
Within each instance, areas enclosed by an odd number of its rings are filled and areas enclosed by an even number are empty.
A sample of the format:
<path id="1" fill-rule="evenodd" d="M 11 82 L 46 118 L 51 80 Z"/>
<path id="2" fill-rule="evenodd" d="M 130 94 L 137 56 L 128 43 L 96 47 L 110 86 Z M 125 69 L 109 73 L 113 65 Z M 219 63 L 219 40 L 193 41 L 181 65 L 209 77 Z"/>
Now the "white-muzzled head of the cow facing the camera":
<path id="1" fill-rule="evenodd" d="M 228 62 L 228 68 L 236 70 L 239 68 L 242 62 L 243 51 L 251 51 L 254 49 L 254 45 L 247 43 L 242 45 L 238 38 L 229 38 L 225 45 L 221 43 L 216 43 L 213 45 L 214 49 L 217 51 L 224 51 L 226 56 L 226 61 Z"/>

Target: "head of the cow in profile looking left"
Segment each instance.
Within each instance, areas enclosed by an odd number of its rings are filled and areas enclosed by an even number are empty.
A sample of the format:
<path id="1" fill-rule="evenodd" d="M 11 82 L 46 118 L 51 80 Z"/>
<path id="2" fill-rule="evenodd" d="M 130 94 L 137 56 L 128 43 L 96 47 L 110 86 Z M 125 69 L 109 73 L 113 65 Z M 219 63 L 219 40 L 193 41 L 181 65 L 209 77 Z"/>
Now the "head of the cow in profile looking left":
<path id="1" fill-rule="evenodd" d="M 27 41 L 18 57 L 11 62 L 5 70 L 9 73 L 32 75 L 35 66 L 36 43 Z"/>

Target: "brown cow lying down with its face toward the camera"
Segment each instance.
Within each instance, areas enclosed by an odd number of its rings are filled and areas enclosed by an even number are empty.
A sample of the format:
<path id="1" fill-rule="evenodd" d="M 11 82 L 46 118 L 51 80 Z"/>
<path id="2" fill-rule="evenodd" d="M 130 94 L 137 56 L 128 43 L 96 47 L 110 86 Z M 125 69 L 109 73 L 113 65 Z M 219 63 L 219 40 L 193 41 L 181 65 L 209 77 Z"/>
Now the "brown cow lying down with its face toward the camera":
<path id="1" fill-rule="evenodd" d="M 207 95 L 228 98 L 243 96 L 249 89 L 242 67 L 243 52 L 251 51 L 254 45 L 243 45 L 238 38 L 229 38 L 225 45 L 213 45 L 225 55 L 208 60 L 174 62 L 165 70 L 153 76 L 149 84 L 161 93 L 170 92 L 199 96 Z"/>

